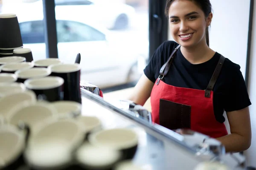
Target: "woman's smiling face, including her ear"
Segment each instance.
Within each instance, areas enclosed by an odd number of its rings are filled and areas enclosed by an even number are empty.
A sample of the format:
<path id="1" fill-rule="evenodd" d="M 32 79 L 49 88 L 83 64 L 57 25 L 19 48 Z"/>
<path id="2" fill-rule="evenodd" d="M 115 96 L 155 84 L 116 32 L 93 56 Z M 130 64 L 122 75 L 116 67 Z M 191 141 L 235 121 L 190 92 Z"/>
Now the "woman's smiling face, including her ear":
<path id="1" fill-rule="evenodd" d="M 183 47 L 206 44 L 205 29 L 212 13 L 207 16 L 191 0 L 175 0 L 169 8 L 169 26 L 174 40 Z"/>

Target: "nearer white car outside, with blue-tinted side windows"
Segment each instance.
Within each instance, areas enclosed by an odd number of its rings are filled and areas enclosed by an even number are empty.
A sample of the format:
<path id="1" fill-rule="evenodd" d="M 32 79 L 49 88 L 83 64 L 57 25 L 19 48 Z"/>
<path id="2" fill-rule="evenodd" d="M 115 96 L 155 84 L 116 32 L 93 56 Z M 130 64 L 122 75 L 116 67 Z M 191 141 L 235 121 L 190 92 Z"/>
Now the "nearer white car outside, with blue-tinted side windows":
<path id="1" fill-rule="evenodd" d="M 63 10 L 61 10 L 63 9 Z M 125 40 L 119 41 L 104 26 L 95 24 L 64 8 L 56 10 L 58 58 L 73 63 L 81 54 L 81 79 L 99 88 L 136 81 L 145 67 L 145 57 L 129 50 Z M 18 16 L 23 47 L 30 48 L 34 60 L 45 59 L 43 16 Z M 134 48 L 135 49 L 135 48 Z"/>

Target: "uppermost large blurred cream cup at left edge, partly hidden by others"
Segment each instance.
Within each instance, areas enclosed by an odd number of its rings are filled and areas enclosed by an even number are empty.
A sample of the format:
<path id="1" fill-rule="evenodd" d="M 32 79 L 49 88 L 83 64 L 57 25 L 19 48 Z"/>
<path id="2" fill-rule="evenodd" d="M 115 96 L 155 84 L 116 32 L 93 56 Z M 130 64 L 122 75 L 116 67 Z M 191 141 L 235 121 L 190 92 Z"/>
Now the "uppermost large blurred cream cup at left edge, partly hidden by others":
<path id="1" fill-rule="evenodd" d="M 33 91 L 22 91 L 3 96 L 0 99 L 0 115 L 8 117 L 12 110 L 21 107 L 24 103 L 35 103 L 36 95 Z"/>

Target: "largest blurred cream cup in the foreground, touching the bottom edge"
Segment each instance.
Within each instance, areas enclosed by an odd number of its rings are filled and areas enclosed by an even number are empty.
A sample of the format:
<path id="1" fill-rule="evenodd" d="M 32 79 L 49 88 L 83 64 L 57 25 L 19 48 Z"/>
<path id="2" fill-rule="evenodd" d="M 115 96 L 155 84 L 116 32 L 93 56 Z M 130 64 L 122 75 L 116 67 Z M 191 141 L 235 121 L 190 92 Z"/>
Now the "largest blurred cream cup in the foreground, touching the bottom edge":
<path id="1" fill-rule="evenodd" d="M 35 169 L 58 169 L 72 164 L 72 152 L 84 140 L 84 131 L 79 122 L 61 119 L 40 126 L 30 136 L 24 152 L 26 162 Z"/>

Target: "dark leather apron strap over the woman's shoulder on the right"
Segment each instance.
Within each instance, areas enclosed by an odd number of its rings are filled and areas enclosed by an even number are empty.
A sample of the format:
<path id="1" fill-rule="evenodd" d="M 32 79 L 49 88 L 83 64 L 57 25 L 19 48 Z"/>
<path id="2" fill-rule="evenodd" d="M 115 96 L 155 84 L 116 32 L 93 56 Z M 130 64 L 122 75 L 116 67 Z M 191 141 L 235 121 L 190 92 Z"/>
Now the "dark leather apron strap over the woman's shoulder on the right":
<path id="1" fill-rule="evenodd" d="M 210 80 L 210 82 L 209 82 L 209 84 L 207 86 L 207 89 L 205 90 L 205 93 L 204 93 L 205 97 L 208 97 L 208 98 L 210 97 L 210 93 L 211 93 L 211 91 L 212 91 L 212 89 L 213 89 L 213 87 L 215 85 L 215 82 L 218 79 L 218 76 L 219 76 L 219 74 L 221 72 L 221 68 L 223 66 L 224 61 L 225 61 L 225 57 L 223 57 L 221 55 L 221 57 L 220 57 L 220 59 L 218 61 L 218 64 L 217 64 L 217 66 L 215 68 L 215 71 L 214 71 L 214 73 L 212 75 L 212 78 L 211 78 L 211 80 Z"/>

